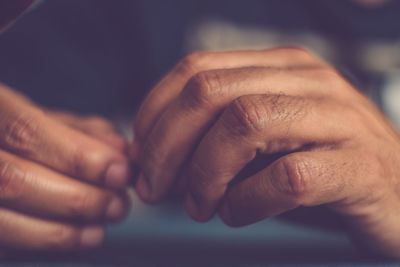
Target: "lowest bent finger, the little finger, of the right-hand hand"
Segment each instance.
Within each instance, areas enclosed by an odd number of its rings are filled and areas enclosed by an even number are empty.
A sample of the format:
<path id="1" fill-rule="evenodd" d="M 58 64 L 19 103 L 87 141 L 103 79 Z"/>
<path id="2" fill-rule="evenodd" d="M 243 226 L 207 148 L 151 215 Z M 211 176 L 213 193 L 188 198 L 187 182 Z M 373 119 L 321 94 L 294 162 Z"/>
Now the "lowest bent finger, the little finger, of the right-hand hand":
<path id="1" fill-rule="evenodd" d="M 243 226 L 300 206 L 344 201 L 358 183 L 350 167 L 359 165 L 357 158 L 349 150 L 287 155 L 232 187 L 220 216 L 230 226 Z"/>

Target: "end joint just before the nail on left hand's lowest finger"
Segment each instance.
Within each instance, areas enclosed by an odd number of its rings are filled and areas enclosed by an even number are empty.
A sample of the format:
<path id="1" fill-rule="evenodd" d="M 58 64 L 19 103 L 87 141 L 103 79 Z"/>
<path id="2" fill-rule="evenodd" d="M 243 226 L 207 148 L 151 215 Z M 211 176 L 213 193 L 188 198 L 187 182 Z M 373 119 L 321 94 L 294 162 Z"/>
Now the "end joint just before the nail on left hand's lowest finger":
<path id="1" fill-rule="evenodd" d="M 51 229 L 45 244 L 48 250 L 71 251 L 79 247 L 79 231 L 73 227 L 60 225 Z"/>

